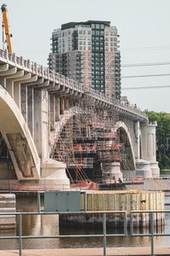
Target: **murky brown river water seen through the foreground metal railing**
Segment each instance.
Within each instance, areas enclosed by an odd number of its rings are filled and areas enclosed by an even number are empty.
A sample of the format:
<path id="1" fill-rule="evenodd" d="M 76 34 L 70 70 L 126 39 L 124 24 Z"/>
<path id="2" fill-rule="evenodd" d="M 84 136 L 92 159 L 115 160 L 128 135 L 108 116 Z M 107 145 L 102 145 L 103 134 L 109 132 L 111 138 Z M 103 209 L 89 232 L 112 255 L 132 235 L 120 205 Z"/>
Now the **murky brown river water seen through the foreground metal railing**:
<path id="1" fill-rule="evenodd" d="M 166 203 L 170 203 L 170 193 L 165 198 Z M 166 209 L 170 209 L 169 206 Z M 17 198 L 17 212 L 37 212 L 37 198 L 25 197 Z M 148 230 L 140 230 L 149 232 Z M 121 229 L 107 228 L 107 233 L 123 233 Z M 139 230 L 136 230 L 139 232 Z M 166 214 L 166 224 L 164 233 L 170 234 L 170 213 Z M 2 230 L 0 236 L 16 235 L 18 230 Z M 49 236 L 49 235 L 76 235 L 76 234 L 102 234 L 102 229 L 90 228 L 62 228 L 59 229 L 58 217 L 55 215 L 26 215 L 23 217 L 23 235 L 26 236 Z M 169 246 L 170 236 L 156 237 L 156 246 Z M 101 247 L 102 238 L 55 238 L 55 239 L 26 239 L 23 241 L 23 248 L 57 248 L 57 247 Z M 150 246 L 149 237 L 109 237 L 108 247 L 138 247 Z M 16 240 L 0 240 L 0 249 L 18 249 Z"/>

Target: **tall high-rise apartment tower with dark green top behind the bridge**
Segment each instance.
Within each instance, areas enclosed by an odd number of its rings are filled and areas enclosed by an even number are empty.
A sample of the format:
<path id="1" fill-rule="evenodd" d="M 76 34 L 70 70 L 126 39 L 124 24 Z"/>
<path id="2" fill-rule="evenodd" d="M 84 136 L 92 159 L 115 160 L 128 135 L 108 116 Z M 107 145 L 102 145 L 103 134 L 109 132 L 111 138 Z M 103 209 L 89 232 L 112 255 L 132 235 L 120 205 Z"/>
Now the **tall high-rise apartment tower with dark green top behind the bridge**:
<path id="1" fill-rule="evenodd" d="M 119 35 L 110 21 L 70 22 L 52 33 L 48 67 L 106 96 L 121 97 Z"/>

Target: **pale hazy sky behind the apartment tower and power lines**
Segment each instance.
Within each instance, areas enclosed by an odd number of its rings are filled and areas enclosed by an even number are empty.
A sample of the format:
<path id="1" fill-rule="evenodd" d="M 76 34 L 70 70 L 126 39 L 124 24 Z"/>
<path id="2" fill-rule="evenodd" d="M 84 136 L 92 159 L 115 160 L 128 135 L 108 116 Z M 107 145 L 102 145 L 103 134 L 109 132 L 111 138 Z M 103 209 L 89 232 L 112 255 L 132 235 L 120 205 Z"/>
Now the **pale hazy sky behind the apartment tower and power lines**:
<path id="1" fill-rule="evenodd" d="M 51 34 L 61 24 L 111 21 L 120 35 L 122 96 L 127 96 L 129 102 L 142 110 L 170 113 L 170 87 L 137 89 L 170 85 L 170 64 L 126 67 L 127 64 L 170 62 L 170 0 L 6 0 L 2 3 L 8 7 L 14 53 L 45 67 Z M 1 40 L 0 47 L 3 47 Z M 153 74 L 167 75 L 126 78 Z M 135 89 L 126 89 L 132 87 Z"/>

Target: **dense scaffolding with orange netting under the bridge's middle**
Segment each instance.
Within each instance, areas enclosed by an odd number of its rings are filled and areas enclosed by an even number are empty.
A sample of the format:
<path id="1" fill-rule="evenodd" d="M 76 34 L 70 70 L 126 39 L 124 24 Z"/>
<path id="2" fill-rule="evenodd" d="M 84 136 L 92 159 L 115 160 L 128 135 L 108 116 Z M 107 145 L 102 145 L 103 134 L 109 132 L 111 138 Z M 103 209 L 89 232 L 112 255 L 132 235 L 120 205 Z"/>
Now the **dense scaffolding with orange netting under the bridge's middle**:
<path id="1" fill-rule="evenodd" d="M 72 183 L 102 182 L 103 165 L 125 158 L 123 143 L 114 130 L 119 115 L 116 109 L 108 111 L 88 94 L 73 105 L 81 111 L 72 115 L 60 131 L 53 157 L 66 163 Z"/>

